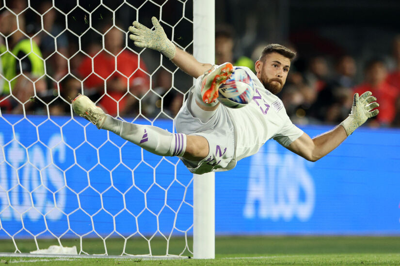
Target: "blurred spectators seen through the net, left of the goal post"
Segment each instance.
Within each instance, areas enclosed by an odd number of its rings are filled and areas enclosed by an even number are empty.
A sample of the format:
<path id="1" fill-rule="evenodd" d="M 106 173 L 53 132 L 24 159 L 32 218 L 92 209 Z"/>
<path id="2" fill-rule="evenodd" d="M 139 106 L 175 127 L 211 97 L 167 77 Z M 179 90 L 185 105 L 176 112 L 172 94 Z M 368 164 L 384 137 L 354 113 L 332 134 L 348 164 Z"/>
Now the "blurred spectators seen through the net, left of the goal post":
<path id="1" fill-rule="evenodd" d="M 150 75 L 118 22 L 104 19 L 96 27 L 102 40 L 77 44 L 57 24 L 51 1 L 38 6 L 43 24 L 40 16 L 25 18 L 26 4 L 12 1 L 12 12 L 0 14 L 1 113 L 70 116 L 71 100 L 83 93 L 112 116 L 176 116 L 184 94 L 173 88 L 172 73 Z"/>

